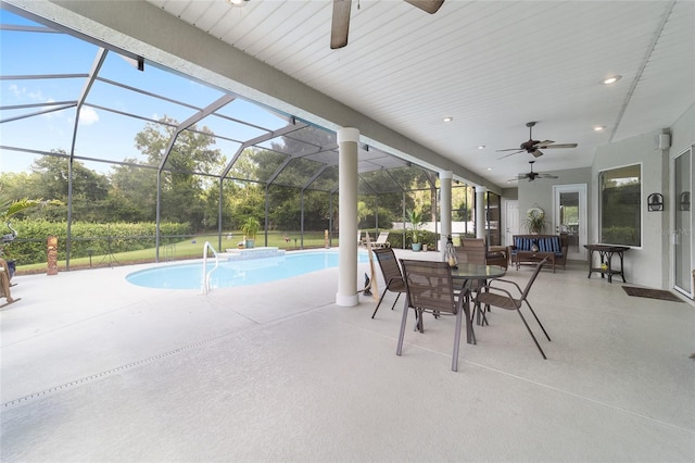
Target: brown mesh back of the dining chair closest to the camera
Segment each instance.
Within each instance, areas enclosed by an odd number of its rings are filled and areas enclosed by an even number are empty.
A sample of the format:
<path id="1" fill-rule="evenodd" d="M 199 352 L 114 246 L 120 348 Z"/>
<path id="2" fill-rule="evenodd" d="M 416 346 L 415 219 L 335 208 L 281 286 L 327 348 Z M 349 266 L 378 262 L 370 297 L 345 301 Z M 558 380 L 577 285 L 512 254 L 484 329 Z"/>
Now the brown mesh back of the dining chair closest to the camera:
<path id="1" fill-rule="evenodd" d="M 452 271 L 447 262 L 401 260 L 401 265 L 409 308 L 456 313 Z"/>

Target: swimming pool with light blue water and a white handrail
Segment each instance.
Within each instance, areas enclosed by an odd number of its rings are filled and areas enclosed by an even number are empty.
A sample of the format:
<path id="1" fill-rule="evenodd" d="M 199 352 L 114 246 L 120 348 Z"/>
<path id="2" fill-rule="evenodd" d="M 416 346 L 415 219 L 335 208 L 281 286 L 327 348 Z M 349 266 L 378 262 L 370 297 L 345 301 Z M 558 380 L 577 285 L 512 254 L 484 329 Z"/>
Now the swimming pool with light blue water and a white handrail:
<path id="1" fill-rule="evenodd" d="M 368 260 L 366 252 L 357 254 L 357 262 L 368 262 Z M 215 261 L 208 260 L 208 272 L 214 266 Z M 219 266 L 211 274 L 210 287 L 231 288 L 257 285 L 337 266 L 337 251 L 294 252 L 277 258 L 244 261 L 220 260 Z M 132 285 L 146 288 L 200 289 L 203 284 L 203 263 L 199 261 L 142 270 L 129 274 L 126 279 Z"/>

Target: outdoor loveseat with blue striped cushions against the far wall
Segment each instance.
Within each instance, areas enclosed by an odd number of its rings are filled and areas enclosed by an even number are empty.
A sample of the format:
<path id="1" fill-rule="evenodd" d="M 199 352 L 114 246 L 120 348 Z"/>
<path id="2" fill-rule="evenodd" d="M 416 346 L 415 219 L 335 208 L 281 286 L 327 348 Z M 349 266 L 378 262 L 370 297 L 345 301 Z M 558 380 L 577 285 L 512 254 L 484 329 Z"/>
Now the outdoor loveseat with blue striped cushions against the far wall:
<path id="1" fill-rule="evenodd" d="M 521 264 L 536 264 L 545 258 L 553 266 L 567 264 L 568 240 L 566 234 L 560 235 L 514 235 L 509 247 L 511 263 L 517 270 Z"/>

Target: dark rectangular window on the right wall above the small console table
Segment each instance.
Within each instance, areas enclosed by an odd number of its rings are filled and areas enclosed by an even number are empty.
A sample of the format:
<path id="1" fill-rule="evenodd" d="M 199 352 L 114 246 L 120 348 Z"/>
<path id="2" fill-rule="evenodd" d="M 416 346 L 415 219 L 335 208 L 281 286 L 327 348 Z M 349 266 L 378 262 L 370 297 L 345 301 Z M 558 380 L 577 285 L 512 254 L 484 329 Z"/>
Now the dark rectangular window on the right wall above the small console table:
<path id="1" fill-rule="evenodd" d="M 601 242 L 642 246 L 642 165 L 598 174 Z"/>

